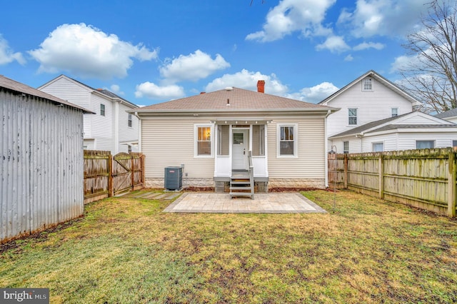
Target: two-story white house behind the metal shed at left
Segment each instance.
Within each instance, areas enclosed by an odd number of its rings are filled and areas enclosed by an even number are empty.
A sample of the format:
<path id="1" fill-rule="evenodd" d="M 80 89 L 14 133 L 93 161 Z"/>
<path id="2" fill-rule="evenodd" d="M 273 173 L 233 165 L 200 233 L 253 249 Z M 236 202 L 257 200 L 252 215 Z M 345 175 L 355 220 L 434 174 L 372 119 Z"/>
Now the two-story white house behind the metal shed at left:
<path id="1" fill-rule="evenodd" d="M 96 113 L 84 116 L 84 149 L 107 150 L 113 154 L 138 151 L 139 119 L 127 111 L 139 106 L 65 75 L 38 89 Z"/>

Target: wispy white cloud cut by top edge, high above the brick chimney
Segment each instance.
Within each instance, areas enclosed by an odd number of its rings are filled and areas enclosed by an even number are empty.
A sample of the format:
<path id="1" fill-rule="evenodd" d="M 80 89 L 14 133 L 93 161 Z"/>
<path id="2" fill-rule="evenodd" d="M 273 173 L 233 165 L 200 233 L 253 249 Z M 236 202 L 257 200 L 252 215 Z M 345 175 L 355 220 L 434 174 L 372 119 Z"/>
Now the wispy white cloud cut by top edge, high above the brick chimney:
<path id="1" fill-rule="evenodd" d="M 263 29 L 248 34 L 246 40 L 275 41 L 294 31 L 303 36 L 327 35 L 331 30 L 321 25 L 326 10 L 336 0 L 282 0 L 266 15 Z"/>

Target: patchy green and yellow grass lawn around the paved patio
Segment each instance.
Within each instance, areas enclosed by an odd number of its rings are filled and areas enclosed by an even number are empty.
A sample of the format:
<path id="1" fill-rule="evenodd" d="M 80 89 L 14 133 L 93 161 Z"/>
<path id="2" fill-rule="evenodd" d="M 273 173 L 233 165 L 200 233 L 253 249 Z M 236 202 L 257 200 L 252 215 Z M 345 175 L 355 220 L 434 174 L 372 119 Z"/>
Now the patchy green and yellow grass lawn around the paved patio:
<path id="1" fill-rule="evenodd" d="M 51 303 L 453 303 L 457 221 L 351 191 L 329 213 L 162 213 L 107 198 L 3 246 L 0 286 Z"/>

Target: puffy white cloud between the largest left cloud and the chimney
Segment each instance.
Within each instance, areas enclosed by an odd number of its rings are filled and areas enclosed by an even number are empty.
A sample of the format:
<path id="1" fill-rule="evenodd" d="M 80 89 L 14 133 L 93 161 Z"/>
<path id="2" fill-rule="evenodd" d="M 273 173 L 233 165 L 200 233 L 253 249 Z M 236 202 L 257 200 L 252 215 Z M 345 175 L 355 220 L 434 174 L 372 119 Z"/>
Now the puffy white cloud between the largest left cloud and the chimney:
<path id="1" fill-rule="evenodd" d="M 200 50 L 196 50 L 188 56 L 181 55 L 168 61 L 165 66 L 160 68 L 160 74 L 165 78 L 165 83 L 198 81 L 230 66 L 221 55 L 216 54 L 216 59 L 211 59 L 209 54 Z"/>

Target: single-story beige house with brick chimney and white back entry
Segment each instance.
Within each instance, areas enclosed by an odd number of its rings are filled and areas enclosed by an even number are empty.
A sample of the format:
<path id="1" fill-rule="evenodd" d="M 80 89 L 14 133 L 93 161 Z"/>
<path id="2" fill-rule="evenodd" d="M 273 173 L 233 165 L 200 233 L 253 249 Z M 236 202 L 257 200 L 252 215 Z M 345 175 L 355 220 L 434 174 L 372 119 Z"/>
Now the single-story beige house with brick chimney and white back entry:
<path id="1" fill-rule="evenodd" d="M 253 167 L 257 191 L 326 187 L 326 118 L 336 108 L 226 88 L 135 110 L 146 186 L 181 166 L 184 186 L 227 191 Z M 250 158 L 251 156 L 251 158 Z"/>

